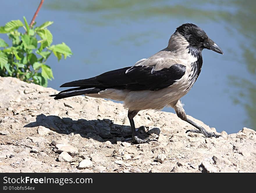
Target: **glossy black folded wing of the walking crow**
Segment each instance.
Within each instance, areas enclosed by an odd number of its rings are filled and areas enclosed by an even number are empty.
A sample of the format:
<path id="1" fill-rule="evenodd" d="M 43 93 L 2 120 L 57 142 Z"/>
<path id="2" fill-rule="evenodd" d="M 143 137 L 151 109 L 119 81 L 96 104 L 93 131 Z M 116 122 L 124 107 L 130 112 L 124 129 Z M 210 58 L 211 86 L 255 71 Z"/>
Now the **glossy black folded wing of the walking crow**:
<path id="1" fill-rule="evenodd" d="M 128 69 L 132 68 L 128 73 Z M 128 90 L 161 90 L 175 81 L 181 79 L 185 74 L 186 67 L 174 64 L 170 68 L 152 70 L 154 66 L 133 66 L 105 72 L 99 76 L 72 81 L 61 85 L 61 87 L 82 88 L 106 88 L 128 89 Z"/>

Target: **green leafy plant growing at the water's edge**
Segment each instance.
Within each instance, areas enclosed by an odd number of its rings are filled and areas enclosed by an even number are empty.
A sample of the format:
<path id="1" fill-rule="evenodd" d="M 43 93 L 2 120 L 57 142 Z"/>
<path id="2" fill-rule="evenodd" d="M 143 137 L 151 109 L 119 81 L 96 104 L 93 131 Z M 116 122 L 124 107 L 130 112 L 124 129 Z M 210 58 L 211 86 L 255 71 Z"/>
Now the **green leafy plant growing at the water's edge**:
<path id="1" fill-rule="evenodd" d="M 54 53 L 60 61 L 72 52 L 65 43 L 51 45 L 53 37 L 47 27 L 52 21 L 35 27 L 35 23 L 29 26 L 26 18 L 23 19 L 24 23 L 12 20 L 0 27 L 0 33 L 7 34 L 12 42 L 9 46 L 0 38 L 0 76 L 17 77 L 46 87 L 48 80 L 54 78 L 51 67 L 45 64 L 49 56 Z M 22 27 L 24 33 L 18 31 Z"/>

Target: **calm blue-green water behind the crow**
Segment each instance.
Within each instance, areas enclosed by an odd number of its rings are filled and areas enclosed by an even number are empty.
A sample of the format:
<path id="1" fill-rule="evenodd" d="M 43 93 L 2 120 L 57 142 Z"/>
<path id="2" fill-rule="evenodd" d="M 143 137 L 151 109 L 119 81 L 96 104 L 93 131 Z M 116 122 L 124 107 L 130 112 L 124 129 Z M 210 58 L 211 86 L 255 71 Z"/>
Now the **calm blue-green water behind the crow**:
<path id="1" fill-rule="evenodd" d="M 27 20 L 38 1 L 1 1 L 3 26 Z M 36 21 L 54 21 L 53 43 L 65 42 L 74 55 L 48 60 L 54 80 L 48 86 L 89 78 L 133 65 L 166 47 L 175 28 L 195 23 L 223 50 L 203 50 L 202 72 L 182 98 L 186 113 L 210 127 L 234 133 L 256 128 L 256 1 L 45 1 Z M 0 37 L 6 39 L 5 34 Z M 171 108 L 164 111 L 174 112 Z"/>

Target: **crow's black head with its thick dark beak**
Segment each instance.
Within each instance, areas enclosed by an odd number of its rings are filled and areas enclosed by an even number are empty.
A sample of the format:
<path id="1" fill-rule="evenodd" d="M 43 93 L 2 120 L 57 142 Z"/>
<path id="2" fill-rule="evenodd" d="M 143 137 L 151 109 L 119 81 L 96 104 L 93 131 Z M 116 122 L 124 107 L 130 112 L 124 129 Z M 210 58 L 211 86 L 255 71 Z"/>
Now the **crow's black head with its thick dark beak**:
<path id="1" fill-rule="evenodd" d="M 221 48 L 207 36 L 205 31 L 193 23 L 182 24 L 176 29 L 175 33 L 182 35 L 192 49 L 203 50 L 207 48 L 223 54 Z"/>

